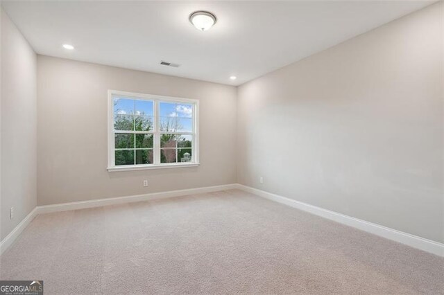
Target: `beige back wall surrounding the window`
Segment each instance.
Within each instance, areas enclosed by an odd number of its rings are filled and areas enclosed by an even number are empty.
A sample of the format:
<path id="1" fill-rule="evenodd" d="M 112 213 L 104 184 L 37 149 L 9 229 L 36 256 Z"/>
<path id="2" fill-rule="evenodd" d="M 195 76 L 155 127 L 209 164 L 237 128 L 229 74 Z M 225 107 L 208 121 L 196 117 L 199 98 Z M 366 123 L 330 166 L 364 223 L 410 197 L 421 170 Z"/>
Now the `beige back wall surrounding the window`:
<path id="1" fill-rule="evenodd" d="M 39 205 L 236 182 L 235 87 L 41 55 L 37 60 Z M 108 172 L 108 89 L 198 99 L 200 166 Z"/>

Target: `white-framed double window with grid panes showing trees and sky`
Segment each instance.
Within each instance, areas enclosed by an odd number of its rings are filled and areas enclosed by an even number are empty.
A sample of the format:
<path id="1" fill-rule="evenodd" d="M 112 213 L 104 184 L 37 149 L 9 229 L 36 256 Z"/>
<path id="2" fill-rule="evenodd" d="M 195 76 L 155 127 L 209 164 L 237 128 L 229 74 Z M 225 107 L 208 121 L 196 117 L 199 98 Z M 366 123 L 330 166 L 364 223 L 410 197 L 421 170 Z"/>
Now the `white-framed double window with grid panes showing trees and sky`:
<path id="1" fill-rule="evenodd" d="M 108 171 L 198 166 L 198 100 L 108 91 Z"/>

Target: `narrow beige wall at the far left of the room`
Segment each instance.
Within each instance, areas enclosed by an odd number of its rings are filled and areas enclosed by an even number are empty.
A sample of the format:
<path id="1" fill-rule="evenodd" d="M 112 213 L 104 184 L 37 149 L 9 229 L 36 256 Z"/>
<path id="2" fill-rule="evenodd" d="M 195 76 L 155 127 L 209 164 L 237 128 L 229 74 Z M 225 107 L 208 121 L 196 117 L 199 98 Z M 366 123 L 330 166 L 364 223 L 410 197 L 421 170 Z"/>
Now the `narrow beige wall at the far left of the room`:
<path id="1" fill-rule="evenodd" d="M 37 57 L 1 9 L 1 239 L 37 204 L 36 86 Z"/>

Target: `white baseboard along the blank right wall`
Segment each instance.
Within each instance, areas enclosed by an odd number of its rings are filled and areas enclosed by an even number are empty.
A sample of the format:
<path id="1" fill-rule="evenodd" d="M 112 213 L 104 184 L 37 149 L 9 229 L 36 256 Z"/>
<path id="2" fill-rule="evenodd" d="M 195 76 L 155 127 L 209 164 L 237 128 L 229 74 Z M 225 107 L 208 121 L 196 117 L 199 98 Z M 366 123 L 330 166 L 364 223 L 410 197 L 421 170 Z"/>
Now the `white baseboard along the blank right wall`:
<path id="1" fill-rule="evenodd" d="M 432 240 L 427 240 L 425 238 L 420 238 L 416 235 L 411 235 L 409 233 L 404 233 L 402 231 L 397 231 L 395 229 L 390 229 L 386 226 L 381 226 L 379 224 L 374 224 L 372 222 L 366 222 L 365 220 L 359 220 L 355 217 L 350 217 L 348 215 L 343 215 L 334 211 L 330 211 L 324 208 L 309 205 L 303 202 L 296 201 L 294 199 L 289 199 L 287 197 L 282 197 L 280 195 L 275 195 L 273 193 L 265 192 L 264 190 L 258 190 L 257 188 L 251 188 L 249 186 L 244 186 L 238 184 L 237 188 L 244 190 L 248 193 L 253 193 L 259 197 L 264 197 L 266 199 L 271 199 L 275 202 L 291 206 L 293 208 L 298 208 L 302 211 L 307 211 L 314 215 L 318 215 L 329 220 L 334 220 L 341 224 L 355 227 L 361 231 L 366 231 L 368 233 L 373 233 L 379 235 L 380 237 L 386 238 L 388 240 L 393 240 L 395 242 L 400 242 L 406 244 L 410 247 L 420 249 L 422 251 L 427 251 L 438 256 L 444 257 L 444 244 L 440 242 L 435 242 Z"/>

